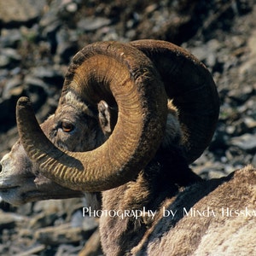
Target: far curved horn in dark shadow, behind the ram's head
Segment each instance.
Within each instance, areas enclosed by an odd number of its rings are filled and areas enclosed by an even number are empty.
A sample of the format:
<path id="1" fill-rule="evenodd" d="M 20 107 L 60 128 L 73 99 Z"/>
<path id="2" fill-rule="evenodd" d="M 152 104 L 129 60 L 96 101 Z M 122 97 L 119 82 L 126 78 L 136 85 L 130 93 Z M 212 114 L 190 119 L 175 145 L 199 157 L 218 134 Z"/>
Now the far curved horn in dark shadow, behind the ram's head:
<path id="1" fill-rule="evenodd" d="M 195 56 L 175 44 L 150 39 L 130 44 L 157 67 L 167 96 L 178 109 L 185 157 L 192 163 L 211 142 L 218 121 L 218 92 L 212 75 Z"/>

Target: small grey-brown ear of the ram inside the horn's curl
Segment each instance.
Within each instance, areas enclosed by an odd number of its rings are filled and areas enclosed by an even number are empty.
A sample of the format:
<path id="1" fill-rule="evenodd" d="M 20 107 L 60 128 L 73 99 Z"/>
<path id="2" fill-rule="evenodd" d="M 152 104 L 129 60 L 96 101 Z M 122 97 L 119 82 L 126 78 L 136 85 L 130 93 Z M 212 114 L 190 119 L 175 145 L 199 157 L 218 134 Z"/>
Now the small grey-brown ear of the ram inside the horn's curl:
<path id="1" fill-rule="evenodd" d="M 99 111 L 99 122 L 102 127 L 102 131 L 105 135 L 109 136 L 112 132 L 111 124 L 110 124 L 110 109 L 108 107 L 108 103 L 101 101 L 98 103 L 98 111 Z"/>

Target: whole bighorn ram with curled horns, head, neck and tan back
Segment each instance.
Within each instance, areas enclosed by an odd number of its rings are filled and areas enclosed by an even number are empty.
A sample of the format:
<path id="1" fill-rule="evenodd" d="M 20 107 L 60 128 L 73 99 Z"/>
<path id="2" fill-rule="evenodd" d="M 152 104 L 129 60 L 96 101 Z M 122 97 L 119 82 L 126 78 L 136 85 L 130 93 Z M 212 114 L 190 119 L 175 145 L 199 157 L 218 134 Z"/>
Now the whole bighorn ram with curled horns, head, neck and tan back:
<path id="1" fill-rule="evenodd" d="M 218 105 L 207 68 L 176 45 L 90 44 L 41 128 L 28 99 L 17 102 L 0 195 L 18 205 L 85 193 L 104 213 L 107 255 L 255 255 L 256 170 L 202 180 L 189 169 Z"/>

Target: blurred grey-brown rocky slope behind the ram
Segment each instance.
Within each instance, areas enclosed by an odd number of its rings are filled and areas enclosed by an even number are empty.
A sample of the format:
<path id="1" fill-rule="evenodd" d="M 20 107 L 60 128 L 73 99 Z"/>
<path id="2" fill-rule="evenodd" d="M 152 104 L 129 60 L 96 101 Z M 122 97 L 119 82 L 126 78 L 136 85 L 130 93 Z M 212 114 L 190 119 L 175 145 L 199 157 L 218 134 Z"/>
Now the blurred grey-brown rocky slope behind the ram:
<path id="1" fill-rule="evenodd" d="M 0 0 L 0 159 L 17 139 L 16 100 L 29 96 L 40 121 L 53 113 L 70 58 L 85 44 L 155 38 L 189 49 L 218 86 L 218 128 L 193 170 L 209 178 L 256 166 L 255 17 L 254 0 Z M 83 206 L 1 202 L 0 254 L 77 255 L 97 226 Z"/>

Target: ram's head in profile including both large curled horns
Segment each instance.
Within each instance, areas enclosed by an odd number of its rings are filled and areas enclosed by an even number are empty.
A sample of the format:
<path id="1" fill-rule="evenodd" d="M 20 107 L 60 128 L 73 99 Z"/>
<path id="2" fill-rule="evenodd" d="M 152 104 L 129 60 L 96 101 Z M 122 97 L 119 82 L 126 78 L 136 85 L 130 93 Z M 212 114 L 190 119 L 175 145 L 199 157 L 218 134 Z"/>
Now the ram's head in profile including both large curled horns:
<path id="1" fill-rule="evenodd" d="M 127 183 L 180 135 L 193 162 L 212 139 L 218 94 L 207 69 L 173 44 L 103 42 L 73 57 L 44 124 L 24 97 L 16 118 L 20 140 L 1 161 L 0 195 L 20 204 Z"/>

